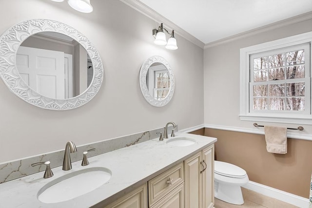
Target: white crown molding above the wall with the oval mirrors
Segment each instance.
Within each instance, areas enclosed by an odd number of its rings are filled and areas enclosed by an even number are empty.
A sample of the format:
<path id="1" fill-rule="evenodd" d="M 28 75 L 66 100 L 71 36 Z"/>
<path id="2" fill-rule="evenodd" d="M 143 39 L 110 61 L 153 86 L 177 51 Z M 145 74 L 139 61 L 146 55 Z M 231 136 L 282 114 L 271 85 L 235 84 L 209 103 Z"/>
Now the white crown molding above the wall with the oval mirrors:
<path id="1" fill-rule="evenodd" d="M 204 49 L 205 44 L 203 42 L 201 42 L 200 40 L 195 38 L 193 35 L 189 34 L 185 30 L 177 26 L 175 23 L 173 23 L 166 17 L 163 17 L 162 15 L 157 13 L 155 10 L 146 6 L 141 1 L 139 0 L 120 0 L 120 1 L 132 7 L 133 9 L 137 10 L 138 12 L 145 15 L 146 17 L 149 17 L 158 23 L 163 23 L 166 27 L 173 28 L 175 30 L 175 34 L 182 36 L 183 38 L 195 44 L 196 46 Z"/>

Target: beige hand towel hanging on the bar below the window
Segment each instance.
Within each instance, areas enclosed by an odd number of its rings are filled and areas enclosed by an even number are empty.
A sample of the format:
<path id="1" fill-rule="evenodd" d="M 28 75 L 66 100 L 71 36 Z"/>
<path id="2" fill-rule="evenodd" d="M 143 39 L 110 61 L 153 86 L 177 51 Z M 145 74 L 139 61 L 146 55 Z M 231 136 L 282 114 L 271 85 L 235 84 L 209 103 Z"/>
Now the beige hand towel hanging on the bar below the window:
<path id="1" fill-rule="evenodd" d="M 287 153 L 287 128 L 278 126 L 264 126 L 267 151 L 269 153 Z"/>

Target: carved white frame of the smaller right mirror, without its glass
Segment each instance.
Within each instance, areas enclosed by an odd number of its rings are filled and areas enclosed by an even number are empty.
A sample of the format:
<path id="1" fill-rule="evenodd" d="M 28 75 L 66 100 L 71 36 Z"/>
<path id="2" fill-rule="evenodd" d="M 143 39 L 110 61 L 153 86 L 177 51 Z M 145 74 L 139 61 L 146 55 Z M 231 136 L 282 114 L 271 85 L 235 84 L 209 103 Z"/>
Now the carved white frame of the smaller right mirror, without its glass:
<path id="1" fill-rule="evenodd" d="M 147 87 L 147 83 L 146 83 L 146 75 L 148 72 L 148 69 L 150 68 L 150 66 L 154 63 L 161 63 L 163 64 L 166 69 L 168 70 L 169 73 L 169 78 L 170 78 L 170 89 L 169 92 L 167 94 L 167 96 L 163 99 L 163 100 L 156 100 L 149 92 L 149 89 Z M 175 92 L 175 76 L 174 76 L 174 72 L 172 71 L 169 63 L 161 56 L 151 56 L 149 57 L 147 60 L 144 61 L 141 69 L 140 69 L 140 76 L 139 76 L 139 83 L 140 83 L 140 88 L 142 91 L 142 94 L 145 98 L 145 100 L 156 107 L 161 107 L 164 106 L 166 104 L 168 104 L 170 102 L 170 100 L 172 99 L 174 92 Z"/>

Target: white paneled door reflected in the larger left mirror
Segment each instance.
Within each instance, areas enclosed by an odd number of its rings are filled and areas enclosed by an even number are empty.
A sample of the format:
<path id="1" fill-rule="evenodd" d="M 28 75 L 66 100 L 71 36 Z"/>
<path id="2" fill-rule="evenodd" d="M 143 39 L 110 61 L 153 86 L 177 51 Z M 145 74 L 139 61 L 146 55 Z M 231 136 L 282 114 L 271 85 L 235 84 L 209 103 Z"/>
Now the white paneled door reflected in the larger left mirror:
<path id="1" fill-rule="evenodd" d="M 46 97 L 65 99 L 64 52 L 20 46 L 16 64 L 29 87 Z"/>

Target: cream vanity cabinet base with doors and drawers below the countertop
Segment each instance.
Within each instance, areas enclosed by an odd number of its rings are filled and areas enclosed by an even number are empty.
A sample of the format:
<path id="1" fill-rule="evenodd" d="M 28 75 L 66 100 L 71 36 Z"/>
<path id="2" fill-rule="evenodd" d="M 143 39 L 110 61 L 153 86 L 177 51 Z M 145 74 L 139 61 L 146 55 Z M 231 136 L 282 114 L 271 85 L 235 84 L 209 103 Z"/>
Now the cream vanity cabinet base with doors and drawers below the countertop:
<path id="1" fill-rule="evenodd" d="M 129 208 L 133 204 L 137 208 L 212 208 L 213 164 L 214 144 L 105 208 Z"/>

